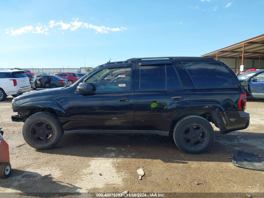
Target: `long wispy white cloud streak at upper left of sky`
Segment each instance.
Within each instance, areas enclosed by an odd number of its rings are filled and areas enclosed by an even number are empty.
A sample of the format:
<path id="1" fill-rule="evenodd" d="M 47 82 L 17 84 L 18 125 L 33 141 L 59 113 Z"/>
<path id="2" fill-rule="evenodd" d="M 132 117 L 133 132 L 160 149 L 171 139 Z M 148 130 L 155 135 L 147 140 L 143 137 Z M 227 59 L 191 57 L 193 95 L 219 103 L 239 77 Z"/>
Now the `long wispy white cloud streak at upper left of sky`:
<path id="1" fill-rule="evenodd" d="M 74 19 L 74 18 L 73 18 Z M 55 29 L 54 29 L 55 28 Z M 17 30 L 14 30 L 14 28 L 5 29 L 6 34 L 9 34 L 11 31 L 12 35 L 20 35 L 23 33 L 42 33 L 48 35 L 48 31 L 53 29 L 53 32 L 56 32 L 57 30 L 67 30 L 69 29 L 70 31 L 75 31 L 78 28 L 87 28 L 87 29 L 94 29 L 96 33 L 109 33 L 109 32 L 119 32 L 126 30 L 127 28 L 125 27 L 120 27 L 120 28 L 109 28 L 106 26 L 97 26 L 93 25 L 91 23 L 84 23 L 84 22 L 79 22 L 78 18 L 74 19 L 74 21 L 70 23 L 64 23 L 62 21 L 55 22 L 54 20 L 50 20 L 48 25 L 41 25 L 38 23 L 38 26 L 33 27 L 33 26 L 25 26 L 22 28 L 18 28 Z M 64 32 L 63 32 L 64 34 Z"/>

